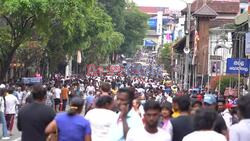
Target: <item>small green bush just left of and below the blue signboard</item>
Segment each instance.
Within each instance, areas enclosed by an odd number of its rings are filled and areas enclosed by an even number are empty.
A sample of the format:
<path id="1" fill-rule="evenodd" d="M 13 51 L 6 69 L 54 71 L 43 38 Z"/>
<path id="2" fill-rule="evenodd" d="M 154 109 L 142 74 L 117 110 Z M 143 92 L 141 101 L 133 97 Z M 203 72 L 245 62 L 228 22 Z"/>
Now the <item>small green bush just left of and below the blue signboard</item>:
<path id="1" fill-rule="evenodd" d="M 219 88 L 220 84 L 220 93 L 224 94 L 224 91 L 227 87 L 235 87 L 237 85 L 238 79 L 233 76 L 222 76 L 221 82 L 217 81 L 217 88 Z"/>

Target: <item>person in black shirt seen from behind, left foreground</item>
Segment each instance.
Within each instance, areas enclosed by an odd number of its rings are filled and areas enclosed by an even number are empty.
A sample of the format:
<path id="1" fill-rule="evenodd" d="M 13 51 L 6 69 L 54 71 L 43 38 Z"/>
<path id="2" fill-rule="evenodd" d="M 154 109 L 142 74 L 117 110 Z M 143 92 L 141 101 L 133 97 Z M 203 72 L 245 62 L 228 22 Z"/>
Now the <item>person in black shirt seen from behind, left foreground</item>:
<path id="1" fill-rule="evenodd" d="M 20 109 L 17 116 L 17 128 L 22 132 L 22 141 L 45 141 L 44 130 L 54 119 L 53 108 L 45 105 L 46 89 L 41 85 L 33 86 L 33 102 Z"/>

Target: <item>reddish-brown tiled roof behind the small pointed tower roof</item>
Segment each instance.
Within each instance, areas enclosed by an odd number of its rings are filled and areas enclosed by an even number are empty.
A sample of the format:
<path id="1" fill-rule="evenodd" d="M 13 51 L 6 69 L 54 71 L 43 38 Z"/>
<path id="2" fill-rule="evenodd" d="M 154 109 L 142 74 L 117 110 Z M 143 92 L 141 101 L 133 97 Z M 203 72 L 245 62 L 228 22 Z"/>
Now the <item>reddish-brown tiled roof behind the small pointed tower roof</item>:
<path id="1" fill-rule="evenodd" d="M 207 5 L 212 8 L 218 14 L 238 14 L 240 10 L 239 0 L 210 0 L 207 2 Z M 194 13 L 196 10 L 200 9 L 203 6 L 202 0 L 195 0 L 191 6 L 191 12 Z M 182 14 L 187 12 L 187 8 L 184 8 Z"/>

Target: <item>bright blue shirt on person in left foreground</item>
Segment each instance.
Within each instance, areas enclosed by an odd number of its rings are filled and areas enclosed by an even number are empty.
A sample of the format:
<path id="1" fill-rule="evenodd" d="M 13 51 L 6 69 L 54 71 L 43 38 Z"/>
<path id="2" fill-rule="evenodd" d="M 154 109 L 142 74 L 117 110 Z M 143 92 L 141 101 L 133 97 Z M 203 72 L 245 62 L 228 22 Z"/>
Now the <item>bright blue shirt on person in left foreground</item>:
<path id="1" fill-rule="evenodd" d="M 59 141 L 84 141 L 91 134 L 90 123 L 81 115 L 70 116 L 66 112 L 55 117 Z"/>

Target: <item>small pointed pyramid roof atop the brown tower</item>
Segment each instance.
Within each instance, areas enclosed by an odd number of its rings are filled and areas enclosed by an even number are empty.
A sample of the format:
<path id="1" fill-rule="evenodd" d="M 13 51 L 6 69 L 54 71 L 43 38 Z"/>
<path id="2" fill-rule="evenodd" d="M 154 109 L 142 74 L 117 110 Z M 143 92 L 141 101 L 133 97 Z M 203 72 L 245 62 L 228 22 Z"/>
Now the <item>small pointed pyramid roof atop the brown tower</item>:
<path id="1" fill-rule="evenodd" d="M 196 17 L 205 16 L 215 18 L 218 14 L 207 4 L 204 4 L 200 9 L 196 10 L 193 15 Z"/>

